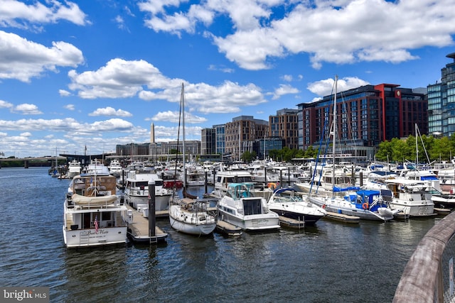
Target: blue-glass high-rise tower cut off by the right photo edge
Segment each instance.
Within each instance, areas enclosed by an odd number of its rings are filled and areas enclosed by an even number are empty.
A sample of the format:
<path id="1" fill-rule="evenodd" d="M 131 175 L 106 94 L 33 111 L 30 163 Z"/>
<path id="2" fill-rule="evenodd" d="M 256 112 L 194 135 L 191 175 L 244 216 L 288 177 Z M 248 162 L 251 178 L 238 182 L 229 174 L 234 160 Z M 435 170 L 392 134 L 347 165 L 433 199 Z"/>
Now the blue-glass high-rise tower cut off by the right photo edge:
<path id="1" fill-rule="evenodd" d="M 446 57 L 453 62 L 441 68 L 441 82 L 429 84 L 428 133 L 451 136 L 455 132 L 455 53 Z"/>

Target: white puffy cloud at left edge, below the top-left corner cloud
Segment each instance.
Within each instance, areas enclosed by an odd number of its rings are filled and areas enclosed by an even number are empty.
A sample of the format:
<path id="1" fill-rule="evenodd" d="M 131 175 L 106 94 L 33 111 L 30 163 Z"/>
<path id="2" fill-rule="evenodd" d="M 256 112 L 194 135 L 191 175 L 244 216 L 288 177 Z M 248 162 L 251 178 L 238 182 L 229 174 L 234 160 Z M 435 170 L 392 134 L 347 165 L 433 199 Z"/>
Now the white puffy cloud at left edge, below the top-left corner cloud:
<path id="1" fill-rule="evenodd" d="M 76 67 L 83 62 L 82 52 L 70 43 L 53 42 L 48 48 L 14 33 L 0 31 L 0 79 L 30 82 L 45 71 Z"/>

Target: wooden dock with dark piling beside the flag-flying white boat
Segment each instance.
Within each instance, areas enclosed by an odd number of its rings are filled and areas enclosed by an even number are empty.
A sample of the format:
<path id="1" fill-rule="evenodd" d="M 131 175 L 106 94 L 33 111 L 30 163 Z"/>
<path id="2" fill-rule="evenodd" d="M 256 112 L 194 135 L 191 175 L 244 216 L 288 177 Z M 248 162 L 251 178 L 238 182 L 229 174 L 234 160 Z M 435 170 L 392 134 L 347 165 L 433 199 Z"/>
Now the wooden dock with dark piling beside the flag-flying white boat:
<path id="1" fill-rule="evenodd" d="M 149 236 L 149 220 L 144 218 L 139 211 L 125 204 L 132 211 L 132 223 L 128 223 L 128 238 L 134 243 L 159 243 L 166 241 L 167 233 L 155 226 L 156 236 Z"/>

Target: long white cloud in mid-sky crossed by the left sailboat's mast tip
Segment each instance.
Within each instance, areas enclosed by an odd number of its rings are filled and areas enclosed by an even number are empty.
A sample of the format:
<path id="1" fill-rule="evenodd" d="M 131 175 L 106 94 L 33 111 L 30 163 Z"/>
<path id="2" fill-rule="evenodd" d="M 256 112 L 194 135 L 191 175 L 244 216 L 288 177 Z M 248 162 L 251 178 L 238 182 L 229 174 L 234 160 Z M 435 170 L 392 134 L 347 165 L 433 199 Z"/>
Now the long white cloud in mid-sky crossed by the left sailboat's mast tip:
<path id="1" fill-rule="evenodd" d="M 255 84 L 240 85 L 225 81 L 217 86 L 191 84 L 170 79 L 144 60 L 112 59 L 95 71 L 68 73 L 68 87 L 83 99 L 139 97 L 146 101 L 180 102 L 181 85 L 185 83 L 188 112 L 235 113 L 241 106 L 257 105 L 267 100 Z"/>

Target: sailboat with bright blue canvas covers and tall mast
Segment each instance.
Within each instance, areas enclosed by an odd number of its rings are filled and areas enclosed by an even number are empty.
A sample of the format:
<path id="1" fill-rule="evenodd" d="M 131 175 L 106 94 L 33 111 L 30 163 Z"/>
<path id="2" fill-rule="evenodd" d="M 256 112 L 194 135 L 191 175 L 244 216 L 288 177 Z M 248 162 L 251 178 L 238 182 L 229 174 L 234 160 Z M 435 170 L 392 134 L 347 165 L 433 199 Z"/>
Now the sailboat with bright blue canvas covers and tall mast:
<path id="1" fill-rule="evenodd" d="M 333 164 L 336 160 L 336 95 L 338 76 L 335 77 L 335 94 L 333 97 L 333 126 L 331 135 L 333 138 Z M 335 180 L 335 170 L 332 170 L 332 180 Z M 338 197 L 335 194 L 336 187 L 333 186 L 333 194 L 331 197 L 315 197 L 310 196 L 309 201 L 321 206 L 326 211 L 335 212 L 338 214 L 346 214 L 349 216 L 358 216 L 360 219 L 375 220 L 375 221 L 390 221 L 393 219 L 394 214 L 399 210 L 389 208 L 386 199 L 382 199 L 378 191 L 362 191 L 355 192 L 355 194 L 346 194 L 345 197 Z"/>

